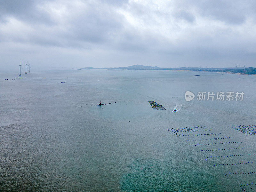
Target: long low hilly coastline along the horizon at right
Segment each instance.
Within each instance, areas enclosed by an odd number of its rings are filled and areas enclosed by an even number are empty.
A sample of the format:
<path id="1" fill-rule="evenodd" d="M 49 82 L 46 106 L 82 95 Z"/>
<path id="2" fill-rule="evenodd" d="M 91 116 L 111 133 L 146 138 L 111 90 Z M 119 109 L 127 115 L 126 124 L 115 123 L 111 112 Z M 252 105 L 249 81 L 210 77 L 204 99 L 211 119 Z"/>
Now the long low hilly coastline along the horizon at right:
<path id="1" fill-rule="evenodd" d="M 180 67 L 180 68 L 161 68 L 161 67 L 152 67 L 145 65 L 131 65 L 128 67 L 112 67 L 112 68 L 93 68 L 93 67 L 84 67 L 81 69 L 123 69 L 123 70 L 190 70 L 190 71 L 212 71 L 212 72 L 225 72 L 232 74 L 252 74 L 256 75 L 256 68 L 198 68 L 198 67 Z"/>

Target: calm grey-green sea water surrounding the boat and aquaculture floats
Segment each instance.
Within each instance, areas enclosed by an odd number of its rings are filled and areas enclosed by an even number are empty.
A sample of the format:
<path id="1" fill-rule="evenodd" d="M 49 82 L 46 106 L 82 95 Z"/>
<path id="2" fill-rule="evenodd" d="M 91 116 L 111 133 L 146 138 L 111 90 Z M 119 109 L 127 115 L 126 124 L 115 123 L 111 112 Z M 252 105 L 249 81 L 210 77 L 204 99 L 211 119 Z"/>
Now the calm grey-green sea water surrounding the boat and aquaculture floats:
<path id="1" fill-rule="evenodd" d="M 99 69 L 14 77 L 0 74 L 1 191 L 241 191 L 256 183 L 256 173 L 225 176 L 256 171 L 256 156 L 247 155 L 256 154 L 256 135 L 228 127 L 256 124 L 256 76 Z M 186 91 L 243 91 L 244 99 L 187 102 Z M 153 110 L 148 100 L 167 110 Z M 166 130 L 191 126 L 221 134 Z M 186 141 L 217 137 L 230 138 Z M 197 152 L 208 149 L 217 151 Z M 214 167 L 245 162 L 253 163 Z"/>

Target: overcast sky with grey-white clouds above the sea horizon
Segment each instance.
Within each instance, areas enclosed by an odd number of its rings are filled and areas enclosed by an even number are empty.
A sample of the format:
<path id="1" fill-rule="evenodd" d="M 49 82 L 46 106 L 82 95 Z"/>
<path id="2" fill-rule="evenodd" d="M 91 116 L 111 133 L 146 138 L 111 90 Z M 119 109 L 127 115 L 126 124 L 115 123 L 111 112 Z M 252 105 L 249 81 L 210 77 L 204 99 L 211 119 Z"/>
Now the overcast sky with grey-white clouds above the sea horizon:
<path id="1" fill-rule="evenodd" d="M 0 1 L 0 66 L 256 67 L 255 0 Z"/>

